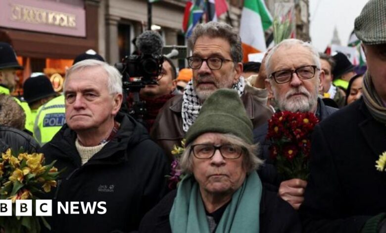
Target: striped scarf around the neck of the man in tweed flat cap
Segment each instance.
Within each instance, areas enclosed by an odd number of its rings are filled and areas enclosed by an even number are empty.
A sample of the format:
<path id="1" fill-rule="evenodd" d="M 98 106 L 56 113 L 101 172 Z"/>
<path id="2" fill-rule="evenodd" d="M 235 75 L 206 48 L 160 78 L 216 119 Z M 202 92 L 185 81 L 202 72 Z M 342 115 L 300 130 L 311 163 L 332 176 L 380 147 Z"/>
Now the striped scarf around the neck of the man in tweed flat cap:
<path id="1" fill-rule="evenodd" d="M 363 77 L 363 86 L 363 100 L 365 101 L 370 114 L 377 121 L 386 124 L 386 107 L 383 105 L 381 98 L 375 91 L 369 72 L 366 72 Z"/>

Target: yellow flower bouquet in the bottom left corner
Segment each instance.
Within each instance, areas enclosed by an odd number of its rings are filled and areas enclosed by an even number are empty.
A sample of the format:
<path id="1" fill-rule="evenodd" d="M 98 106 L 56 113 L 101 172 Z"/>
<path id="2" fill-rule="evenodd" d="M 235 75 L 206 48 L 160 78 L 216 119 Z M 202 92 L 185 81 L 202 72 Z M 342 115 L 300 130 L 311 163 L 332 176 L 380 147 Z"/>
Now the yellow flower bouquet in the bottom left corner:
<path id="1" fill-rule="evenodd" d="M 58 172 L 53 164 L 45 165 L 43 154 L 17 153 L 10 149 L 0 157 L 0 200 L 12 200 L 12 216 L 0 218 L 0 231 L 5 233 L 39 233 L 39 217 L 35 216 L 35 201 L 39 193 L 51 191 L 56 187 Z M 32 200 L 33 216 L 15 216 L 16 200 Z M 47 221 L 40 216 L 42 223 L 50 229 Z"/>

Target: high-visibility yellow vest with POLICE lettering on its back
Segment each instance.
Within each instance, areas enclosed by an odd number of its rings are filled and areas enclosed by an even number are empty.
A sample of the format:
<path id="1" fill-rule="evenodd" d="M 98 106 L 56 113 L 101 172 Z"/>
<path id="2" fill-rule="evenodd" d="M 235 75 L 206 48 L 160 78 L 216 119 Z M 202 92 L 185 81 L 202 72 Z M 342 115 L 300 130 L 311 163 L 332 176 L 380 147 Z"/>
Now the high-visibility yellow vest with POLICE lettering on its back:
<path id="1" fill-rule="evenodd" d="M 34 137 L 41 145 L 49 142 L 66 123 L 64 113 L 63 95 L 53 98 L 38 109 L 34 124 Z"/>

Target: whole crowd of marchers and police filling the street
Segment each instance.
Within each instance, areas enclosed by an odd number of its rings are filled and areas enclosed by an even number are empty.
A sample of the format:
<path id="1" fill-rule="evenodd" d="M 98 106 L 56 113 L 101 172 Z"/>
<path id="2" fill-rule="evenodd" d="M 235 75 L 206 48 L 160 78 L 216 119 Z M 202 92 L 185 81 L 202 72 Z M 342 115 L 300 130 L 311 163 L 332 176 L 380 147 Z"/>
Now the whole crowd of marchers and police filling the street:
<path id="1" fill-rule="evenodd" d="M 75 58 L 63 94 L 38 74 L 11 97 L 22 67 L 0 43 L 0 150 L 41 152 L 65 169 L 42 199 L 106 202 L 104 215 L 53 205 L 52 232 L 386 233 L 385 18 L 386 2 L 369 0 L 355 20 L 364 73 L 298 39 L 242 63 L 232 26 L 198 24 L 189 67 L 164 57 L 157 84 L 140 91 L 141 122 L 127 113 L 122 75 L 97 54 Z M 268 122 L 281 112 L 319 119 L 307 178 L 283 178 L 270 154 Z"/>

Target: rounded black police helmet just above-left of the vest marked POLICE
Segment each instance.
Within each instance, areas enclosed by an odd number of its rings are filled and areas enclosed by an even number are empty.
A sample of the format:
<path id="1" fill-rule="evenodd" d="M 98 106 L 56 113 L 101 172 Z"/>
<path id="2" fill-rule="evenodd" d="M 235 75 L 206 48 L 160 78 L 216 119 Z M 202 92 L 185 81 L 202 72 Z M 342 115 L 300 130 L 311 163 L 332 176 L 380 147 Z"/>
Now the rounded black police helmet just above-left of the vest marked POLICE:
<path id="1" fill-rule="evenodd" d="M 56 92 L 47 76 L 30 77 L 24 82 L 23 97 L 28 104 L 49 96 L 56 96 Z"/>

